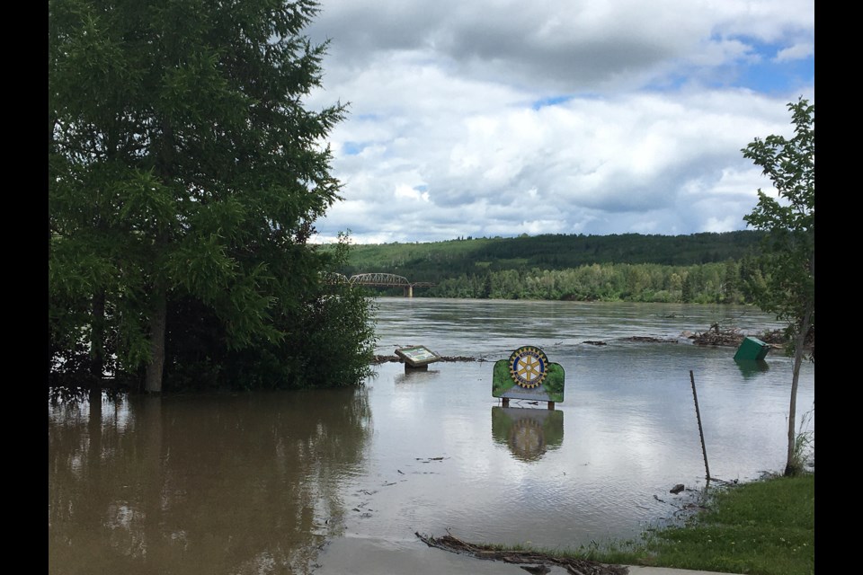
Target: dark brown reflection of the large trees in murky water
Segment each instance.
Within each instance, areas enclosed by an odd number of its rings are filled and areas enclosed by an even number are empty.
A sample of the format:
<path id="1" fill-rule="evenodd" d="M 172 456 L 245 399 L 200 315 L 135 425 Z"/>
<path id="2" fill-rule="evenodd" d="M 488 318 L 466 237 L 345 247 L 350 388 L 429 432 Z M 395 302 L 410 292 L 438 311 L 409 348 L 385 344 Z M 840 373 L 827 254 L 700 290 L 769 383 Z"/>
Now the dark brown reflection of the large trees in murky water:
<path id="1" fill-rule="evenodd" d="M 310 571 L 369 439 L 362 389 L 136 397 L 89 429 L 56 412 L 50 572 Z"/>

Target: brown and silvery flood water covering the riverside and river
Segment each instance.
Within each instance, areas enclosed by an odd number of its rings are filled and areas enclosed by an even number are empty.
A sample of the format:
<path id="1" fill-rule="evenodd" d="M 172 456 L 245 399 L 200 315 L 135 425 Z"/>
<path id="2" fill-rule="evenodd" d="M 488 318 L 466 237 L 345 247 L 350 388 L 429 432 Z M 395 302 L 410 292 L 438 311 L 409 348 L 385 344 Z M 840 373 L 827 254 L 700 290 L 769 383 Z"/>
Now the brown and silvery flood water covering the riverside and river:
<path id="1" fill-rule="evenodd" d="M 716 321 L 757 335 L 778 327 L 770 315 L 377 304 L 379 354 L 422 344 L 479 360 L 385 363 L 359 389 L 49 404 L 49 572 L 523 573 L 416 534 L 546 548 L 634 539 L 681 517 L 707 467 L 713 484 L 784 468 L 790 358 L 738 363 L 735 349 L 681 337 Z M 494 361 L 522 345 L 565 369 L 554 410 L 492 397 Z M 814 364 L 797 420 L 814 434 Z"/>

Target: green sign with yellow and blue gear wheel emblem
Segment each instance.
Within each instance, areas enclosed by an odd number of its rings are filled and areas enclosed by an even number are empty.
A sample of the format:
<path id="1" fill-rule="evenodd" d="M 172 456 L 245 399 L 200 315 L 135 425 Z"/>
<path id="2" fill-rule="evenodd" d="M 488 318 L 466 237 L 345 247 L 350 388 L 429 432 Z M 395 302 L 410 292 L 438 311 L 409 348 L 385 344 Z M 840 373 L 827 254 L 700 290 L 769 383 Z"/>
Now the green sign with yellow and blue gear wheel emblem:
<path id="1" fill-rule="evenodd" d="M 552 403 L 564 401 L 564 368 L 548 361 L 546 353 L 536 346 L 515 349 L 508 359 L 494 362 L 492 395 L 510 399 L 527 399 Z"/>

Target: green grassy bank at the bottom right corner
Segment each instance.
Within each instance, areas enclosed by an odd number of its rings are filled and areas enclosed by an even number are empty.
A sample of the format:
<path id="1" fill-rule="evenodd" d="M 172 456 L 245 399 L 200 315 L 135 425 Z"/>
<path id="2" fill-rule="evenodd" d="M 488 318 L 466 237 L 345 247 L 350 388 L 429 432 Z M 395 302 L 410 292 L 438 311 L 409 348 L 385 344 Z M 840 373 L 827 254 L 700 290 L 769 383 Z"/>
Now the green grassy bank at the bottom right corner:
<path id="1" fill-rule="evenodd" d="M 598 562 L 752 575 L 815 572 L 815 476 L 775 477 L 715 491 L 685 525 L 636 543 L 573 553 Z"/>

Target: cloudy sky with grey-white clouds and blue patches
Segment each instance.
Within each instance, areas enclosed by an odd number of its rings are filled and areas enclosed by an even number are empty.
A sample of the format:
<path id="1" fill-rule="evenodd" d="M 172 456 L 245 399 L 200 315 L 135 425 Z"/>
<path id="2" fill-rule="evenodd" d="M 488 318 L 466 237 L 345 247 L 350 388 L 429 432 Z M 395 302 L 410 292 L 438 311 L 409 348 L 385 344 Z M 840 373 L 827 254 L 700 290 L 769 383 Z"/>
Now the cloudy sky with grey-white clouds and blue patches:
<path id="1" fill-rule="evenodd" d="M 814 0 L 321 0 L 317 241 L 746 229 L 741 148 L 814 102 Z"/>

